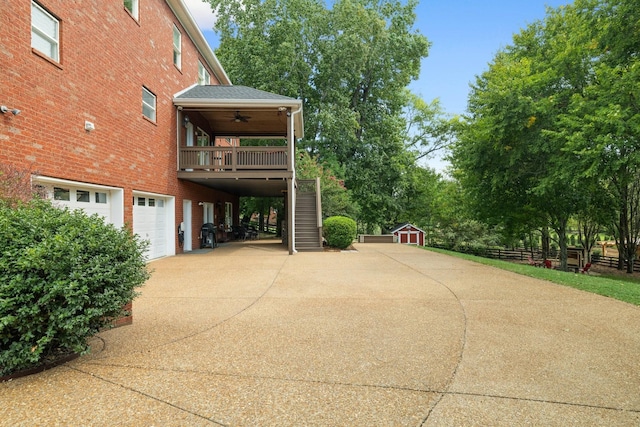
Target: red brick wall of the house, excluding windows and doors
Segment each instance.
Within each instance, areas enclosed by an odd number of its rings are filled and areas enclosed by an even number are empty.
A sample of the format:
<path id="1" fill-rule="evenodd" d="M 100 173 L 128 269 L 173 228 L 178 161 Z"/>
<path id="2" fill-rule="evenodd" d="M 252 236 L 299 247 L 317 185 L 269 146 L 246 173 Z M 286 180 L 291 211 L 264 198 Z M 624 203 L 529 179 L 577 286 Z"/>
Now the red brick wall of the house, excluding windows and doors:
<path id="1" fill-rule="evenodd" d="M 0 0 L 0 104 L 22 110 L 0 114 L 0 162 L 124 188 L 129 224 L 134 190 L 176 196 L 176 226 L 182 199 L 193 200 L 194 230 L 202 221 L 198 200 L 237 203 L 177 179 L 172 98 L 197 81 L 198 59 L 206 62 L 166 2 L 140 1 L 138 21 L 119 0 L 39 4 L 60 19 L 59 63 L 31 48 L 30 2 Z M 182 33 L 181 69 L 173 64 L 174 23 Z M 143 86 L 157 97 L 155 123 L 142 115 Z M 94 131 L 84 130 L 85 120 Z"/>

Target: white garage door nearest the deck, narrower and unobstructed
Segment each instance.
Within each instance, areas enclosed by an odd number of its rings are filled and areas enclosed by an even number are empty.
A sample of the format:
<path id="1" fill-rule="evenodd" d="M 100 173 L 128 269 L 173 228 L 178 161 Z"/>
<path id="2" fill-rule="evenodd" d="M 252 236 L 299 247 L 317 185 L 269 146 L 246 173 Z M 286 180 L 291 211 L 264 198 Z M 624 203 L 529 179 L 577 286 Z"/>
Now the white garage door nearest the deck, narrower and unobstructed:
<path id="1" fill-rule="evenodd" d="M 133 232 L 149 241 L 147 259 L 168 255 L 166 205 L 162 197 L 136 195 L 133 198 Z"/>

